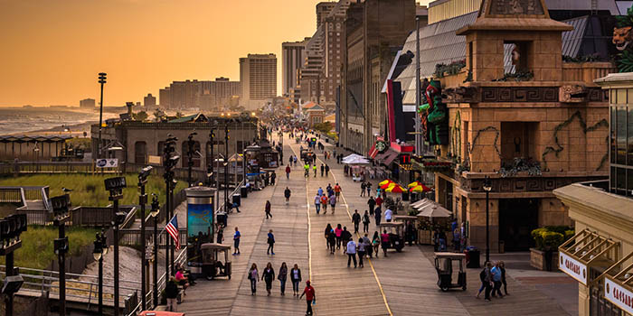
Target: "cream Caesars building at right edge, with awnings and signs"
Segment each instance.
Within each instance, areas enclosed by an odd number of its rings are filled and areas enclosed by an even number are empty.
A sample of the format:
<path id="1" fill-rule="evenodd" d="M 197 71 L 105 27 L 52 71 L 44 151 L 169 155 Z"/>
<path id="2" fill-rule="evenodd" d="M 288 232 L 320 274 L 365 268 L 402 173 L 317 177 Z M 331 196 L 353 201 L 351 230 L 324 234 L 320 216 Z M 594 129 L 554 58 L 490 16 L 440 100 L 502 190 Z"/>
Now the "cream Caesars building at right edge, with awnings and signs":
<path id="1" fill-rule="evenodd" d="M 633 73 L 596 82 L 609 94 L 609 180 L 553 193 L 576 236 L 559 247 L 559 268 L 578 281 L 579 315 L 633 313 Z"/>

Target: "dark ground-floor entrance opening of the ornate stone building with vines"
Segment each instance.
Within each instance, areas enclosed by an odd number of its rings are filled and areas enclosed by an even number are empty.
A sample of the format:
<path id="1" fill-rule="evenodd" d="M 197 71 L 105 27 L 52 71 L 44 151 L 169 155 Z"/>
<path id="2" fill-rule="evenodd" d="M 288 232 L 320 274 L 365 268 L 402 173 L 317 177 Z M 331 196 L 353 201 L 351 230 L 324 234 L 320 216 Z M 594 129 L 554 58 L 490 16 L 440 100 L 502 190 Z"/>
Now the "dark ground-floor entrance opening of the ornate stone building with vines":
<path id="1" fill-rule="evenodd" d="M 499 200 L 499 241 L 505 251 L 527 251 L 534 246 L 532 230 L 538 228 L 537 199 Z"/>

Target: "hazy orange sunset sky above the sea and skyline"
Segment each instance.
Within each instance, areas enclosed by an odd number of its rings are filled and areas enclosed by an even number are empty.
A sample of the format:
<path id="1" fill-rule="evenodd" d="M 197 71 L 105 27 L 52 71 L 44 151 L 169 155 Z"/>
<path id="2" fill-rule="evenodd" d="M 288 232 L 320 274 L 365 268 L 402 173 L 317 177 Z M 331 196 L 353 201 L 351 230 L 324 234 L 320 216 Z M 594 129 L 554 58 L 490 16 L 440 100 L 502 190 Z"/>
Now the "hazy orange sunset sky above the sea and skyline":
<path id="1" fill-rule="evenodd" d="M 239 58 L 316 30 L 318 0 L 0 0 L 0 106 L 142 101 L 173 80 L 239 80 Z M 426 3 L 427 1 L 422 1 Z M 99 100 L 98 100 L 99 102 Z"/>

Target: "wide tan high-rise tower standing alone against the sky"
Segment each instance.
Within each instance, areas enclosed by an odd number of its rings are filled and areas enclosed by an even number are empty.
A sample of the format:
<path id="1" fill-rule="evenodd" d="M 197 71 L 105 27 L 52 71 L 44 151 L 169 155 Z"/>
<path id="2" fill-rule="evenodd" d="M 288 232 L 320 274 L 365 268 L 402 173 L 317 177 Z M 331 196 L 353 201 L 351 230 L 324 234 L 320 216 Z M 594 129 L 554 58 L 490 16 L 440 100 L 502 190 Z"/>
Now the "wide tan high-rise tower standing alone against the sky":
<path id="1" fill-rule="evenodd" d="M 257 107 L 259 101 L 277 97 L 277 56 L 249 54 L 240 59 L 241 104 Z"/>

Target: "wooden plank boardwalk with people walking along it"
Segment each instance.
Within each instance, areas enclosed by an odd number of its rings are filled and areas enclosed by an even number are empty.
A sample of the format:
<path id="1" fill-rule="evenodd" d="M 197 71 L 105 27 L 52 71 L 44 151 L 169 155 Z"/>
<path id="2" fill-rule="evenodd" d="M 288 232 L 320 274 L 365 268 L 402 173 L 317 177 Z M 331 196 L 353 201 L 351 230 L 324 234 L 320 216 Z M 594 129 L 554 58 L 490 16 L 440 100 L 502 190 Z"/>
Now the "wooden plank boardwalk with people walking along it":
<path id="1" fill-rule="evenodd" d="M 292 143 L 292 144 L 291 144 Z M 298 155 L 299 145 L 286 138 L 284 157 Z M 329 146 L 326 144 L 326 146 Z M 330 149 L 330 147 L 326 147 Z M 319 158 L 322 155 L 319 154 Z M 317 161 L 318 165 L 322 161 Z M 504 301 L 486 303 L 474 298 L 478 288 L 478 270 L 468 271 L 468 291 L 442 293 L 436 280 L 437 274 L 431 264 L 432 253 L 424 246 L 407 246 L 402 253 L 391 253 L 384 258 L 365 260 L 364 268 L 347 267 L 347 256 L 342 250 L 330 255 L 326 250 L 324 229 L 327 223 L 341 223 L 354 229 L 351 213 L 358 209 L 363 213 L 366 198 L 359 197 L 360 186 L 343 175 L 343 165 L 334 160 L 326 162 L 332 168 L 328 177 L 316 177 L 313 173 L 304 178 L 300 166 L 293 168 L 290 179 L 284 174 L 285 166 L 279 168 L 278 183 L 263 191 L 249 194 L 242 200 L 241 213 L 231 214 L 224 243 L 231 244 L 232 228 L 241 231 L 241 256 L 232 256 L 231 280 L 217 279 L 201 281 L 189 291 L 179 311 L 187 315 L 302 315 L 306 310 L 305 300 L 292 296 L 288 281 L 286 296 L 279 294 L 279 281 L 273 283 L 271 296 L 266 295 L 264 283 L 258 283 L 257 295 L 250 295 L 247 271 L 256 263 L 261 272 L 270 262 L 279 272 L 286 262 L 288 267 L 298 264 L 302 270 L 303 283 L 309 278 L 316 288 L 315 313 L 319 315 L 518 315 L 558 314 L 560 306 L 531 285 L 522 285 L 509 280 L 509 285 L 520 295 L 510 296 Z M 338 201 L 335 215 L 328 208 L 316 215 L 313 199 L 319 187 L 326 188 L 338 182 L 342 198 Z M 292 191 L 289 205 L 285 204 L 283 191 Z M 375 186 L 374 186 L 375 187 Z M 264 204 L 270 200 L 273 218 L 265 219 Z M 373 219 L 373 218 L 372 218 Z M 266 254 L 266 234 L 272 229 L 277 243 L 275 256 Z M 372 223 L 370 232 L 375 226 Z M 354 236 L 357 240 L 359 236 Z M 516 312 L 525 311 L 526 313 Z"/>

